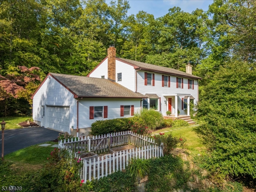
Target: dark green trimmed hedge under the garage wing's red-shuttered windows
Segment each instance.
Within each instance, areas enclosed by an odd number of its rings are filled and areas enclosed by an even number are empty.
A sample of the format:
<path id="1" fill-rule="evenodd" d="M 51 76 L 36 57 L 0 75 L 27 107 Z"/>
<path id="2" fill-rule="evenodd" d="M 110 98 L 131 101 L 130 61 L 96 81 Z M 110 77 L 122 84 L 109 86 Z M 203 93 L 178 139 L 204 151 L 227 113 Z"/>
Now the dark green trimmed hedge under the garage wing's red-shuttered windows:
<path id="1" fill-rule="evenodd" d="M 101 135 L 112 132 L 120 132 L 131 129 L 129 122 L 132 118 L 118 118 L 118 119 L 107 119 L 98 120 L 92 123 L 92 135 Z"/>

